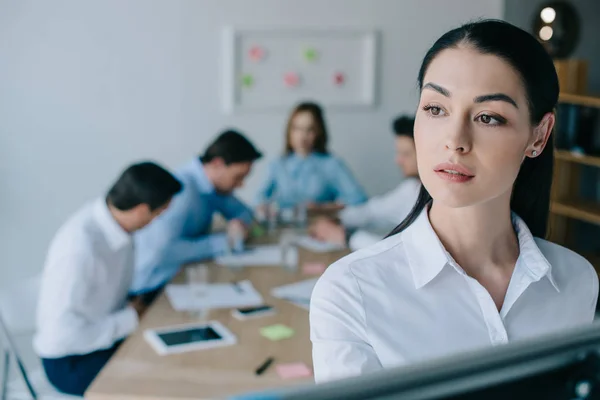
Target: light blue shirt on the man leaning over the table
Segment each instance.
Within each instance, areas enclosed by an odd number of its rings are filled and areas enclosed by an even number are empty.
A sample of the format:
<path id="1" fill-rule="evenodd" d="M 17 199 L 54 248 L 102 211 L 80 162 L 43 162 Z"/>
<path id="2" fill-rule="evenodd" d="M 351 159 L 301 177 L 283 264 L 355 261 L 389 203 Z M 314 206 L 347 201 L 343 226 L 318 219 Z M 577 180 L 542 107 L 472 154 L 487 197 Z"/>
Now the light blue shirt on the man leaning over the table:
<path id="1" fill-rule="evenodd" d="M 183 190 L 167 210 L 134 235 L 133 294 L 164 285 L 182 264 L 223 254 L 228 249 L 227 235 L 210 233 L 214 213 L 228 220 L 252 221 L 250 208 L 232 195 L 215 191 L 199 159 L 175 175 L 183 183 Z"/>

